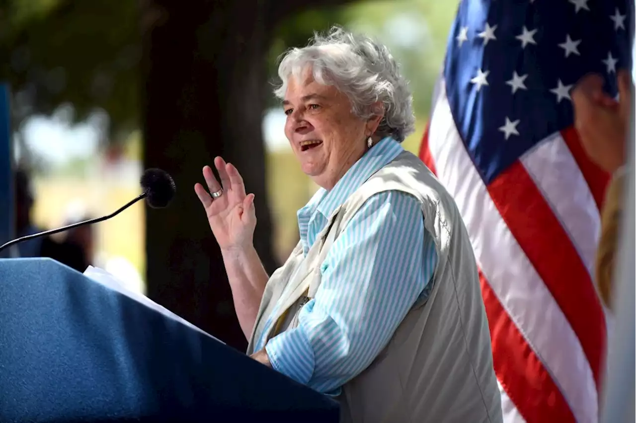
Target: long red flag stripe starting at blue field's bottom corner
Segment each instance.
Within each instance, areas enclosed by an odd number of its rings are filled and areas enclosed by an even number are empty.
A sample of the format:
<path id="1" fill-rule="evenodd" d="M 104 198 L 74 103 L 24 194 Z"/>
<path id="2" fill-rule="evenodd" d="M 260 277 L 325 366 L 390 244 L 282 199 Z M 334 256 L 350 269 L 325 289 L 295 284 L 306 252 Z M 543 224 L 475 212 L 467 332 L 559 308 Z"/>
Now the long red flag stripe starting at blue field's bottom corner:
<path id="1" fill-rule="evenodd" d="M 519 161 L 487 188 L 504 222 L 581 342 L 598 388 L 605 349 L 605 315 L 587 267 Z"/>

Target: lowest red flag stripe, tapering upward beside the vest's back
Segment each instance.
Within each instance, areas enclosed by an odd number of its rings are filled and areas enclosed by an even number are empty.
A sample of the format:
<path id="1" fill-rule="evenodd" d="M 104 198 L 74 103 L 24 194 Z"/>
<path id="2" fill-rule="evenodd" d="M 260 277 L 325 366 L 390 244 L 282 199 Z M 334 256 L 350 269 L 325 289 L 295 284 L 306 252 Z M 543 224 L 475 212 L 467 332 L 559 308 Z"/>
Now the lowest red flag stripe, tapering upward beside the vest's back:
<path id="1" fill-rule="evenodd" d="M 527 423 L 575 422 L 563 394 L 502 307 L 481 270 L 479 278 L 488 314 L 495 373 L 506 394 Z"/>

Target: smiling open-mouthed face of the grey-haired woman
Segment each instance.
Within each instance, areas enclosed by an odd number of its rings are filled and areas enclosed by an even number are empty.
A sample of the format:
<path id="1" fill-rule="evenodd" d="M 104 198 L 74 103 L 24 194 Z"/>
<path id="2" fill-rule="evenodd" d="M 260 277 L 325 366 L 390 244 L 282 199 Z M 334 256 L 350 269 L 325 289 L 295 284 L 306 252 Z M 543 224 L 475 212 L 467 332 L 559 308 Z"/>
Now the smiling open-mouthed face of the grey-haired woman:
<path id="1" fill-rule="evenodd" d="M 309 69 L 289 78 L 283 107 L 285 135 L 301 169 L 328 190 L 363 156 L 380 121 L 355 116 L 347 95 L 314 81 Z"/>

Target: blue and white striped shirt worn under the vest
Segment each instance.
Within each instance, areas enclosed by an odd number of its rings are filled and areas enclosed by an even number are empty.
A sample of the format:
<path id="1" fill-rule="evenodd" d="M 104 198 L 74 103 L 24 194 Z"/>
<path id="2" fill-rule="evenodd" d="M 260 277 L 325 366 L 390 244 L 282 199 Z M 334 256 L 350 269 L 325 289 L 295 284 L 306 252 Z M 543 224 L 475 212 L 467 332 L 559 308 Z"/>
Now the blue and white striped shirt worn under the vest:
<path id="1" fill-rule="evenodd" d="M 331 213 L 401 151 L 384 138 L 331 191 L 320 189 L 298 211 L 305 255 Z M 321 285 L 298 314 L 298 327 L 265 346 L 272 367 L 316 391 L 338 394 L 384 349 L 415 301 L 428 295 L 437 258 L 417 199 L 400 191 L 375 194 L 331 246 Z"/>

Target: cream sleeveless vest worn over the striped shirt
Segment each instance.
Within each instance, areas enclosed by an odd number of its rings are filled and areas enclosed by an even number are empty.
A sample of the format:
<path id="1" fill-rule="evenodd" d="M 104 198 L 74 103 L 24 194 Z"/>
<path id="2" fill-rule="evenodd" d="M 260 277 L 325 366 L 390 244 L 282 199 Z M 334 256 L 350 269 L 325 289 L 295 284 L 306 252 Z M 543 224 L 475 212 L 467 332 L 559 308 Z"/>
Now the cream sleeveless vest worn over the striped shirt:
<path id="1" fill-rule="evenodd" d="M 373 363 L 342 387 L 340 421 L 502 422 L 488 321 L 466 227 L 448 192 L 409 152 L 377 171 L 333 212 L 307 257 L 299 243 L 272 274 L 247 352 L 253 352 L 279 300 L 282 307 L 272 321 L 289 312 L 278 332 L 268 329 L 266 339 L 297 325 L 300 307 L 320 286 L 320 265 L 334 239 L 366 199 L 389 190 L 411 194 L 422 204 L 438 265 L 428 299 L 413 305 Z"/>

